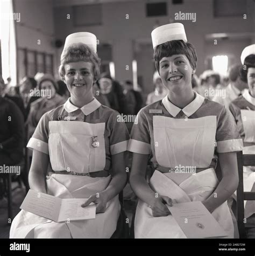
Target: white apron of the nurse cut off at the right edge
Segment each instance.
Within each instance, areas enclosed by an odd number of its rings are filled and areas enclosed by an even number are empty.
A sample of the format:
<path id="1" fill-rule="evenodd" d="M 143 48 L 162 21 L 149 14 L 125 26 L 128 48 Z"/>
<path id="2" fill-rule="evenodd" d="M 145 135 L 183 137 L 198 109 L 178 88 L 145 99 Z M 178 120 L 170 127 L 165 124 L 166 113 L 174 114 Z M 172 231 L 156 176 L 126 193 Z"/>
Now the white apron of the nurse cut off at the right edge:
<path id="1" fill-rule="evenodd" d="M 255 143 L 255 111 L 241 109 L 241 117 L 244 126 L 244 142 Z M 244 147 L 243 154 L 255 155 L 255 145 Z M 244 191 L 255 191 L 255 167 L 244 167 Z M 249 218 L 255 213 L 254 200 L 244 201 L 244 217 Z"/>

